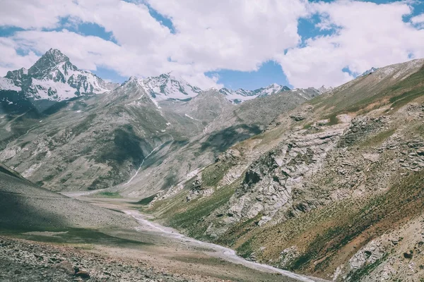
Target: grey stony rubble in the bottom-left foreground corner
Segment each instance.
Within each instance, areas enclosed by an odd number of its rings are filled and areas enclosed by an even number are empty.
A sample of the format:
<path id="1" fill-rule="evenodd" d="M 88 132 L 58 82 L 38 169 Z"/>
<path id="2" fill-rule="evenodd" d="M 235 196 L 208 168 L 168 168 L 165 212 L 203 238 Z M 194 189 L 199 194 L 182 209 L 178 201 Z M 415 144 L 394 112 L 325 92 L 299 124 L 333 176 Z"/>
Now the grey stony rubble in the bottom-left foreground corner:
<path id="1" fill-rule="evenodd" d="M 0 236 L 0 281 L 188 281 L 141 262 Z"/>

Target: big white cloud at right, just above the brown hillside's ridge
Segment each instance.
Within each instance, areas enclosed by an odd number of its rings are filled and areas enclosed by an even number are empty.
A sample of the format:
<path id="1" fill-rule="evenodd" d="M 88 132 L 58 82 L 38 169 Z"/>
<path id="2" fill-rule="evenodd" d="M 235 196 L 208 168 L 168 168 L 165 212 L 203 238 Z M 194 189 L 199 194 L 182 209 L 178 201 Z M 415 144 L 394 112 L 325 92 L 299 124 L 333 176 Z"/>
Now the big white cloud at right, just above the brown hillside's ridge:
<path id="1" fill-rule="evenodd" d="M 372 66 L 424 56 L 424 30 L 404 23 L 402 16 L 410 14 L 411 7 L 403 2 L 319 2 L 310 5 L 310 13 L 319 13 L 326 26 L 340 28 L 334 35 L 307 40 L 305 47 L 276 56 L 295 87 L 341 85 L 353 79 L 343 68 L 363 73 Z"/>

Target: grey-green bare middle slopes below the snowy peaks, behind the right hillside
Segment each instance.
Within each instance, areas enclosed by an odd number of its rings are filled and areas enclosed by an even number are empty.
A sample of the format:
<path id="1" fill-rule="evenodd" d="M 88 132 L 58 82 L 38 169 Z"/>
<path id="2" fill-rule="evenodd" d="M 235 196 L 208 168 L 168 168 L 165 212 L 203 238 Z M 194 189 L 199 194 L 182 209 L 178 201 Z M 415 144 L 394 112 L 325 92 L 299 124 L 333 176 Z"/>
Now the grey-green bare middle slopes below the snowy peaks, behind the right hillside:
<path id="1" fill-rule="evenodd" d="M 0 120 L 8 136 L 0 159 L 52 190 L 122 183 L 124 194 L 146 195 L 210 164 L 307 99 L 281 92 L 234 106 L 209 91 L 189 101 L 157 102 L 141 80 L 131 78 L 106 95 L 58 102 L 43 116 L 28 112 Z"/>

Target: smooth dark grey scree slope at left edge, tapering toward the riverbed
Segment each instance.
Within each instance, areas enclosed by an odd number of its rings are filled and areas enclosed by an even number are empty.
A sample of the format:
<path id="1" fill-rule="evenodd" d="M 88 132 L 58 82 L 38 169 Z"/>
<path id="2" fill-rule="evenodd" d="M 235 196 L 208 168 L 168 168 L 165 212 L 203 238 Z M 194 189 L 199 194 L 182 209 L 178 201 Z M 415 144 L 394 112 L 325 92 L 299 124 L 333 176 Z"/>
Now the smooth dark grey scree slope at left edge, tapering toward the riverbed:
<path id="1" fill-rule="evenodd" d="M 131 217 L 37 187 L 0 164 L 1 230 L 136 226 Z"/>

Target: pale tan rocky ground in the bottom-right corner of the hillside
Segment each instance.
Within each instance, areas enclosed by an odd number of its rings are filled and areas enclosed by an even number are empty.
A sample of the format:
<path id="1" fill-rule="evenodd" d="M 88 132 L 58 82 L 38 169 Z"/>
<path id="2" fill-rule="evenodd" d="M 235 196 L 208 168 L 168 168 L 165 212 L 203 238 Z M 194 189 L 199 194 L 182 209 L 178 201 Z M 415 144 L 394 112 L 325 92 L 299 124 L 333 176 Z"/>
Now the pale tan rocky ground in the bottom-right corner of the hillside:
<path id="1" fill-rule="evenodd" d="M 334 281 L 416 281 L 416 277 L 424 274 L 423 255 L 421 215 L 406 226 L 371 240 L 346 264 L 338 266 L 332 278 Z"/>

